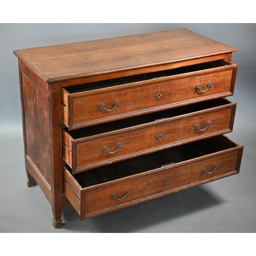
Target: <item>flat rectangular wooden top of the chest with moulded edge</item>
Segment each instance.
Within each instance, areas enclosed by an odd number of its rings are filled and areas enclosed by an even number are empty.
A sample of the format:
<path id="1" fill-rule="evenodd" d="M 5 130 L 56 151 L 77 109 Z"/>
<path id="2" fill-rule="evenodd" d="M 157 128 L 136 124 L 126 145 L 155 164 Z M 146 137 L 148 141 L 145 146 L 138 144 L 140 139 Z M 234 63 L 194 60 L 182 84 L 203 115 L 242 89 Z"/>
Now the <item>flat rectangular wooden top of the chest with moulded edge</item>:
<path id="1" fill-rule="evenodd" d="M 238 51 L 187 29 L 16 50 L 46 82 Z"/>

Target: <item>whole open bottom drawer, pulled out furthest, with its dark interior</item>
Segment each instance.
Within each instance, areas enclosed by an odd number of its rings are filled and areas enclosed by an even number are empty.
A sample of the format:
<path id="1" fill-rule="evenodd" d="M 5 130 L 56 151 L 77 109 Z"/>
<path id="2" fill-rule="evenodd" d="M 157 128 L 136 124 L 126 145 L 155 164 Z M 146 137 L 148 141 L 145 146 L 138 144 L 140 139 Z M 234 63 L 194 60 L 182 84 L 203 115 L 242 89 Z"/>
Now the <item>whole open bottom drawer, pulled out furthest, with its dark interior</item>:
<path id="1" fill-rule="evenodd" d="M 80 219 L 238 174 L 243 146 L 217 136 L 72 175 L 63 189 Z"/>

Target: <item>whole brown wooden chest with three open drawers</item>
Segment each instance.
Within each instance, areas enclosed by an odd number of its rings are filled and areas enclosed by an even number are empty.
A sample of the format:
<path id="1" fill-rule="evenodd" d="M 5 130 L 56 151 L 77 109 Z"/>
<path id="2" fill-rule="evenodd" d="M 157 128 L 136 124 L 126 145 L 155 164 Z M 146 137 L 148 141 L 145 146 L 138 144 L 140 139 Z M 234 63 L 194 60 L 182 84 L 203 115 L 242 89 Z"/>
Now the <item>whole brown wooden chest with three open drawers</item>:
<path id="1" fill-rule="evenodd" d="M 238 49 L 186 29 L 14 51 L 27 184 L 62 225 L 238 174 Z"/>

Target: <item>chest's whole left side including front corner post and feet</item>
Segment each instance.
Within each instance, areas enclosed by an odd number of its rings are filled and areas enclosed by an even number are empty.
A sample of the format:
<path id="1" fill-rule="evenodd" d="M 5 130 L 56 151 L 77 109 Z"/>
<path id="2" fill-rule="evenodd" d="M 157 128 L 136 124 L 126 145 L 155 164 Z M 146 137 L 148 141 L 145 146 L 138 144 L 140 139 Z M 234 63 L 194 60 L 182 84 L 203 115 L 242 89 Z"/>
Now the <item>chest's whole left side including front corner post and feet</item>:
<path id="1" fill-rule="evenodd" d="M 53 225 L 62 214 L 61 91 L 49 87 L 20 63 L 25 164 L 29 184 L 35 181 L 52 205 Z M 57 99 L 59 98 L 59 99 Z M 59 111 L 58 111 L 59 110 Z M 56 129 L 59 127 L 59 129 Z M 59 170 L 59 171 L 58 171 Z M 33 179 L 31 177 L 33 177 Z M 34 181 L 35 180 L 35 181 Z M 65 200 L 67 204 L 67 199 Z"/>

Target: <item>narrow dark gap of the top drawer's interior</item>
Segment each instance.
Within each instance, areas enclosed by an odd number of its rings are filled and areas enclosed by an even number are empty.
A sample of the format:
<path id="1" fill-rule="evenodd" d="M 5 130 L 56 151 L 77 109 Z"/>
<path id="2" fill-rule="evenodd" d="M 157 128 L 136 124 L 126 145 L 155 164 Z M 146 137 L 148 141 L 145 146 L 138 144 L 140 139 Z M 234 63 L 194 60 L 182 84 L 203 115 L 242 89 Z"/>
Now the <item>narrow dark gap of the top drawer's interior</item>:
<path id="1" fill-rule="evenodd" d="M 133 75 L 133 76 L 127 76 L 127 77 L 122 77 L 122 78 L 115 78 L 115 79 L 91 82 L 91 83 L 84 83 L 84 84 L 79 84 L 78 86 L 72 86 L 72 87 L 68 87 L 65 89 L 70 94 L 86 92 L 86 91 L 91 91 L 91 90 L 95 90 L 95 89 L 120 86 L 121 84 L 126 84 L 126 83 L 146 81 L 146 80 L 151 80 L 151 79 L 160 78 L 160 77 L 181 75 L 181 74 L 186 74 L 186 73 L 190 73 L 190 72 L 224 67 L 224 66 L 228 66 L 228 65 L 231 65 L 231 63 L 229 63 L 225 60 L 215 60 L 215 61 L 209 61 L 206 63 L 200 63 L 200 64 L 196 64 L 196 65 L 186 66 L 186 67 L 182 67 L 182 68 L 176 68 L 176 69 L 170 69 L 170 70 L 164 70 L 164 71 L 158 71 L 158 72 L 152 72 L 152 73 L 145 73 L 145 74 L 140 74 L 140 75 Z"/>

